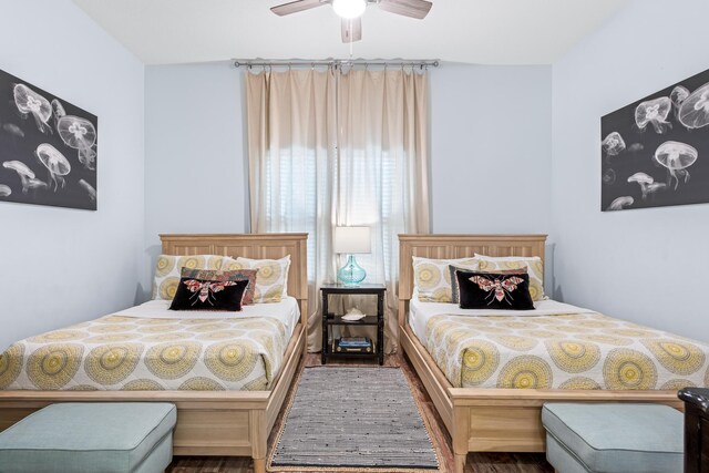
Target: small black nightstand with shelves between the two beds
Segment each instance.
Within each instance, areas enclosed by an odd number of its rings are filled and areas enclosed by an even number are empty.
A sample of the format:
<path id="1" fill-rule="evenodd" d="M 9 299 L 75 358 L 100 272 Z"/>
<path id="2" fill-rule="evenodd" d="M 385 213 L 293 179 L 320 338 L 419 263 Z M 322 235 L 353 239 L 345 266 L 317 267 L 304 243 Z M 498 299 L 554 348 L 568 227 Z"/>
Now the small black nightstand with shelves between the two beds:
<path id="1" fill-rule="evenodd" d="M 359 286 L 323 285 L 320 288 L 322 296 L 322 364 L 327 364 L 328 358 L 379 358 L 379 364 L 384 363 L 384 294 L 387 287 L 381 284 L 363 284 Z M 329 309 L 330 295 L 357 295 L 376 296 L 377 315 L 367 315 L 361 320 L 349 322 L 342 320 L 342 313 L 331 313 Z M 332 336 L 333 326 L 377 326 L 377 338 L 372 340 L 371 352 L 336 351 L 339 339 Z"/>

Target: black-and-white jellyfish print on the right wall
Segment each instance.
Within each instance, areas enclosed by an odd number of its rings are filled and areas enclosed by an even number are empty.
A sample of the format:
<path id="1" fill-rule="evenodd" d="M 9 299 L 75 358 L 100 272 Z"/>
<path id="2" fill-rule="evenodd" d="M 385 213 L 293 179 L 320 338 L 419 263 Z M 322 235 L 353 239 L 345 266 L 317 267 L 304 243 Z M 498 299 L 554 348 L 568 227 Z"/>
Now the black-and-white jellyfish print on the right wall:
<path id="1" fill-rule="evenodd" d="M 600 120 L 602 210 L 709 203 L 709 71 Z"/>

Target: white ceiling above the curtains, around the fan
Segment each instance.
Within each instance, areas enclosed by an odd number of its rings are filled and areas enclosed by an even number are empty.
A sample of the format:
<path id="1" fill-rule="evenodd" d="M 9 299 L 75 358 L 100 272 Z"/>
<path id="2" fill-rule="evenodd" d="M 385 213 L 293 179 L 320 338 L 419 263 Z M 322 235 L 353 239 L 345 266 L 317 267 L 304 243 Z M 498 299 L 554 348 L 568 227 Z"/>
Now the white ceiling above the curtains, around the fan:
<path id="1" fill-rule="evenodd" d="M 329 6 L 277 17 L 287 0 L 73 0 L 146 64 L 350 56 Z M 370 6 L 354 58 L 549 64 L 628 0 L 432 0 L 424 20 Z"/>

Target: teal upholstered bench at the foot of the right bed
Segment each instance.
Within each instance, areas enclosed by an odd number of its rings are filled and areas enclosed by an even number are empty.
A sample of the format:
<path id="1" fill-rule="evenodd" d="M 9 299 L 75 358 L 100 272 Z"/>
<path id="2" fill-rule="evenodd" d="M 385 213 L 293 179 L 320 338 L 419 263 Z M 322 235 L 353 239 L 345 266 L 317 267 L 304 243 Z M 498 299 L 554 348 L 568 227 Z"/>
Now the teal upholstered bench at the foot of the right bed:
<path id="1" fill-rule="evenodd" d="M 680 473 L 684 417 L 658 404 L 547 403 L 546 457 L 559 473 Z"/>

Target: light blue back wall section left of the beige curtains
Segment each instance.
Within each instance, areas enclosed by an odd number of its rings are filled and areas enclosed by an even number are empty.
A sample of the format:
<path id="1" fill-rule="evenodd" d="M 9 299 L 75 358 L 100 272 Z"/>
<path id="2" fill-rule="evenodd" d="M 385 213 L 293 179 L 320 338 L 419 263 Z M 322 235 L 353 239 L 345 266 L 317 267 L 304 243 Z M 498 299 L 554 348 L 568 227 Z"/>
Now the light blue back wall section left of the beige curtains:
<path id="1" fill-rule="evenodd" d="M 246 230 L 242 102 L 242 73 L 226 62 L 146 68 L 147 270 L 158 234 Z"/>

